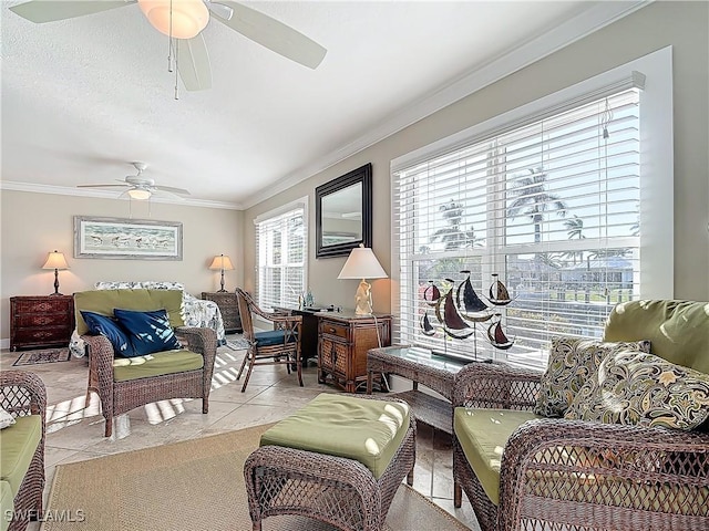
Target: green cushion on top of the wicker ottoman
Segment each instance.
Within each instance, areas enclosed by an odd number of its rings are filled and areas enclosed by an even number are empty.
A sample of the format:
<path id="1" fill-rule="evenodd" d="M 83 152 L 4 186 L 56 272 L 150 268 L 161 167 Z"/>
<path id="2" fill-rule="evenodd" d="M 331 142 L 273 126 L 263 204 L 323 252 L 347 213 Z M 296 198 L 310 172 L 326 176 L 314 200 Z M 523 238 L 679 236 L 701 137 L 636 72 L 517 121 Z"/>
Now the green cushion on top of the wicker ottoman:
<path id="1" fill-rule="evenodd" d="M 320 394 L 261 435 L 274 445 L 346 457 L 379 478 L 409 429 L 409 406 L 398 402 Z"/>

